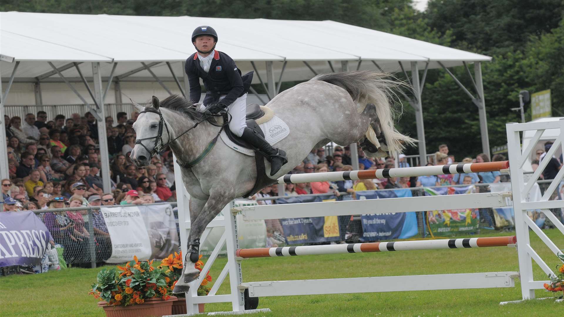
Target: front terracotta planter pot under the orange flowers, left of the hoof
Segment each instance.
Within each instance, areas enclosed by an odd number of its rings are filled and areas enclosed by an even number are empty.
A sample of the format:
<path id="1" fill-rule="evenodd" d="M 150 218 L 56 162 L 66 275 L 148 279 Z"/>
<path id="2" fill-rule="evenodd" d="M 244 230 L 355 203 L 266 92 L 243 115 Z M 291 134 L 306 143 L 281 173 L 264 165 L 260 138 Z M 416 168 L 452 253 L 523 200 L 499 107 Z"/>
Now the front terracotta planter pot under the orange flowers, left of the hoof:
<path id="1" fill-rule="evenodd" d="M 168 301 L 161 298 L 149 298 L 142 304 L 134 304 L 127 306 L 107 305 L 107 302 L 98 302 L 98 306 L 102 307 L 107 317 L 138 317 L 138 316 L 162 316 L 171 315 L 172 305 L 177 301 L 176 296 L 171 296 Z M 184 306 L 186 309 L 186 306 Z"/>

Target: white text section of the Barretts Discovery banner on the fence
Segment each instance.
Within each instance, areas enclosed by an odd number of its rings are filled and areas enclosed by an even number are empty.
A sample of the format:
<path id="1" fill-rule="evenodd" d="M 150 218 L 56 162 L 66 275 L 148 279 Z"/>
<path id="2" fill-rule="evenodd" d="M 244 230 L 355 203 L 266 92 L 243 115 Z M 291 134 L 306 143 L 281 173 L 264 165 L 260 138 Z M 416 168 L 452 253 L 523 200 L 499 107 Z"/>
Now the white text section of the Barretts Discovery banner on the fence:
<path id="1" fill-rule="evenodd" d="M 106 262 L 124 263 L 133 256 L 151 257 L 151 241 L 141 211 L 136 206 L 100 208 L 112 241 L 112 256 Z"/>

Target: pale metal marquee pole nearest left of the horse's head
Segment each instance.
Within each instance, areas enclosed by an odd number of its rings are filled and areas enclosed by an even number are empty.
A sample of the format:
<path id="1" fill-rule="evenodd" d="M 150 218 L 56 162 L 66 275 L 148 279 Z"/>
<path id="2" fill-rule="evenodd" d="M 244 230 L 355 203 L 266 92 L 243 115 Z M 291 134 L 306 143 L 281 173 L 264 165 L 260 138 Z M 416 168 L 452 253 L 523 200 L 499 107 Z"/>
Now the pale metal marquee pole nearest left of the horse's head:
<path id="1" fill-rule="evenodd" d="M 95 103 L 98 105 L 96 113 L 102 118 L 98 120 L 98 143 L 100 145 L 100 156 L 102 162 L 102 184 L 104 192 L 111 192 L 111 183 L 109 181 L 109 153 L 108 153 L 108 135 L 105 130 L 105 111 L 104 100 L 102 98 L 102 76 L 100 75 L 100 63 L 92 62 L 92 79 L 94 80 L 94 98 Z M 109 84 L 109 83 L 108 83 Z"/>

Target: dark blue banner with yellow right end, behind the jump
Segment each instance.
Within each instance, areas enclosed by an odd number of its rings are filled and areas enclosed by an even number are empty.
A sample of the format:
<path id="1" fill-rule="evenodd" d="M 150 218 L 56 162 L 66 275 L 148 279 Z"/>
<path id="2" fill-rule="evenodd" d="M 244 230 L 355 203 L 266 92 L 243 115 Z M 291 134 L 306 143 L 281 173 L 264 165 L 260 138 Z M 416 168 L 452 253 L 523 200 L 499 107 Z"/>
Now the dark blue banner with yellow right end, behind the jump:
<path id="1" fill-rule="evenodd" d="M 319 196 L 292 196 L 276 200 L 276 204 L 297 204 L 299 202 L 335 201 L 336 197 L 321 199 Z M 287 244 L 320 243 L 341 240 L 337 216 L 280 219 Z"/>

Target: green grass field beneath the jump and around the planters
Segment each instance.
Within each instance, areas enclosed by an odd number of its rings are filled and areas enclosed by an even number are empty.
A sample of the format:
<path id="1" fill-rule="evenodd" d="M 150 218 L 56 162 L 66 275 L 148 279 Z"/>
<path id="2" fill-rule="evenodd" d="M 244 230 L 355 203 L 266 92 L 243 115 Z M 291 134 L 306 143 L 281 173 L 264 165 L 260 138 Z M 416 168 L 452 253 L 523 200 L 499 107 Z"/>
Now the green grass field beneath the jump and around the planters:
<path id="1" fill-rule="evenodd" d="M 564 236 L 545 231 L 560 248 Z M 497 235 L 513 235 L 503 232 Z M 535 234 L 531 245 L 550 267 L 559 261 Z M 218 276 L 227 258 L 219 258 L 211 269 Z M 545 279 L 533 265 L 535 278 Z M 101 268 L 70 268 L 38 275 L 0 278 L 0 316 L 104 316 L 96 300 L 88 295 Z M 518 271 L 514 248 L 420 250 L 411 252 L 333 254 L 243 261 L 244 281 L 326 279 L 364 276 L 448 274 L 464 272 Z M 259 308 L 270 308 L 267 316 L 544 316 L 554 315 L 562 303 L 553 300 L 527 301 L 500 306 L 500 301 L 521 299 L 514 288 L 429 290 L 417 292 L 355 293 L 261 298 Z M 219 293 L 228 292 L 228 278 Z M 537 297 L 552 296 L 544 290 Z M 206 304 L 206 312 L 231 310 L 230 303 Z M 260 316 L 260 315 L 255 315 Z"/>

